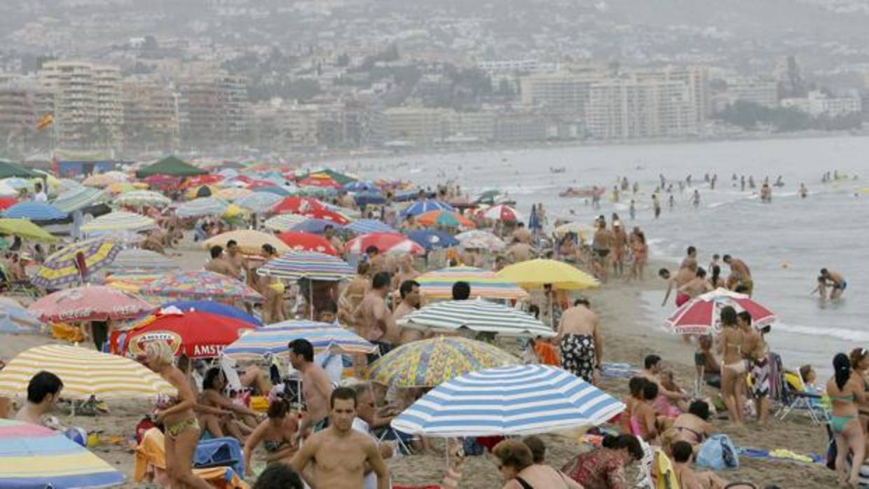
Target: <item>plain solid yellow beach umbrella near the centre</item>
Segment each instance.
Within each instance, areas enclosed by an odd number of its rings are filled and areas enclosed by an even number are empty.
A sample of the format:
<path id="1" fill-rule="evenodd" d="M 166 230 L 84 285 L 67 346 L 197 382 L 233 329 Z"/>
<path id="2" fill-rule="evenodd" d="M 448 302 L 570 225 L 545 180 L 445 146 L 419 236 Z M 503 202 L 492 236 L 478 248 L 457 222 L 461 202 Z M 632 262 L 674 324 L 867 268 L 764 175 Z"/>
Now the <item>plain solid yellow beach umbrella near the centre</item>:
<path id="1" fill-rule="evenodd" d="M 509 265 L 498 272 L 498 277 L 526 288 L 541 288 L 545 284 L 552 284 L 556 289 L 582 290 L 600 285 L 593 276 L 573 265 L 542 258 Z"/>

